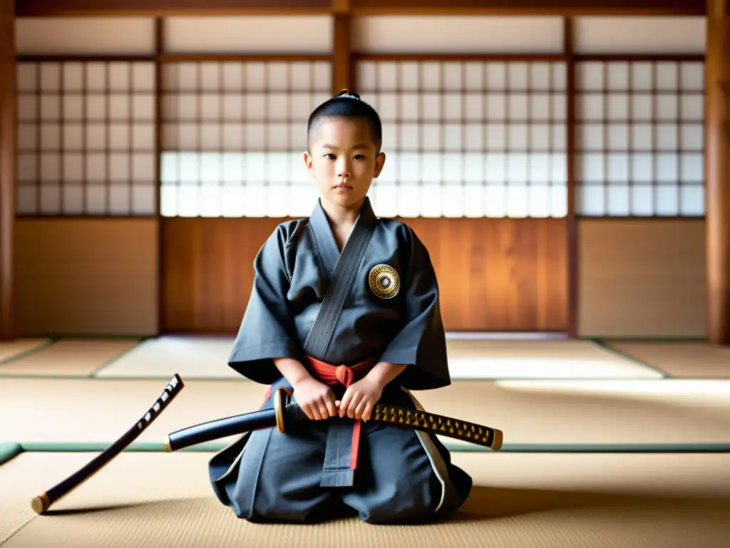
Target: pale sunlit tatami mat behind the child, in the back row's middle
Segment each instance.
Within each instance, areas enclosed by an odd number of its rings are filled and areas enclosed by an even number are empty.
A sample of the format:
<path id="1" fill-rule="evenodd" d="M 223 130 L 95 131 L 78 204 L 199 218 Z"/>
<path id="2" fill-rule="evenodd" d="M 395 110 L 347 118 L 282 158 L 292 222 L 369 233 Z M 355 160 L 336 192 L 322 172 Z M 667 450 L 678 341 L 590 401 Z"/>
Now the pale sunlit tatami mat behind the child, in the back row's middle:
<path id="1" fill-rule="evenodd" d="M 104 378 L 236 378 L 226 365 L 234 339 L 164 336 L 145 340 L 99 370 Z M 661 374 L 585 340 L 448 340 L 453 379 L 661 378 Z"/>

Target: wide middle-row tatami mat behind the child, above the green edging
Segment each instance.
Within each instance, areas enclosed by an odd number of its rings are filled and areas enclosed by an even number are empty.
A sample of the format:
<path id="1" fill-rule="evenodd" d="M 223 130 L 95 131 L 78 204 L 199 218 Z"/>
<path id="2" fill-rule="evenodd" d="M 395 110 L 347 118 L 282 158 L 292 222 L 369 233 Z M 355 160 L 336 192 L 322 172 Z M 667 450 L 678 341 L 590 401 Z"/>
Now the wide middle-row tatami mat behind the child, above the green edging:
<path id="1" fill-rule="evenodd" d="M 195 381 L 139 442 L 255 411 L 266 387 Z M 7 378 L 0 433 L 15 442 L 111 443 L 145 414 L 167 380 Z M 432 413 L 504 430 L 505 444 L 730 442 L 730 381 L 469 381 L 415 392 Z"/>

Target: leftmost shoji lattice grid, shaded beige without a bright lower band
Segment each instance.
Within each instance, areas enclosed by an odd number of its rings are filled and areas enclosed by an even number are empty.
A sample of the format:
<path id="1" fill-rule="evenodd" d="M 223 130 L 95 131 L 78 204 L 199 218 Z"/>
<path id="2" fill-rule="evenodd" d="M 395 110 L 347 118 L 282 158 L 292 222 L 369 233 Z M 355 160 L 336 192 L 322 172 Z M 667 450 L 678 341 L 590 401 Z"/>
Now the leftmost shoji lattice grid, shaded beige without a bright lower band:
<path id="1" fill-rule="evenodd" d="M 18 214 L 155 214 L 155 66 L 18 64 Z"/>

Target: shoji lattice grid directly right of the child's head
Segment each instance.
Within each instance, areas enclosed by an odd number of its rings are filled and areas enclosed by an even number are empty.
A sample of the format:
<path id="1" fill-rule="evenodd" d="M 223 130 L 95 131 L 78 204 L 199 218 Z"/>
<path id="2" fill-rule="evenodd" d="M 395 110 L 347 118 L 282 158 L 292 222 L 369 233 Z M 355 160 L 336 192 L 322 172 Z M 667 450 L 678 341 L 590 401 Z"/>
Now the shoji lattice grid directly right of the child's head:
<path id="1" fill-rule="evenodd" d="M 563 62 L 364 59 L 358 91 L 383 120 L 379 215 L 566 216 Z"/>

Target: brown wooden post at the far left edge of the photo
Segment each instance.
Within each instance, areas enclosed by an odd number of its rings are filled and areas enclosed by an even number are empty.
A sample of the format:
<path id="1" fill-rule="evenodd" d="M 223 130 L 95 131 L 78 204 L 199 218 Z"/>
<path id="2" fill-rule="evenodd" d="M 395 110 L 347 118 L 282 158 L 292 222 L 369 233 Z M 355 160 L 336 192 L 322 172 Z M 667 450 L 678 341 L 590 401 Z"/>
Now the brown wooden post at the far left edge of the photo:
<path id="1" fill-rule="evenodd" d="M 0 340 L 15 338 L 13 237 L 16 179 L 15 0 L 0 0 Z"/>

